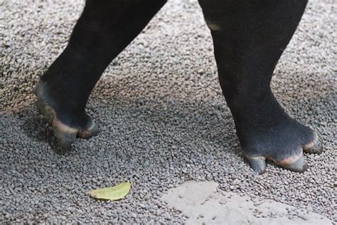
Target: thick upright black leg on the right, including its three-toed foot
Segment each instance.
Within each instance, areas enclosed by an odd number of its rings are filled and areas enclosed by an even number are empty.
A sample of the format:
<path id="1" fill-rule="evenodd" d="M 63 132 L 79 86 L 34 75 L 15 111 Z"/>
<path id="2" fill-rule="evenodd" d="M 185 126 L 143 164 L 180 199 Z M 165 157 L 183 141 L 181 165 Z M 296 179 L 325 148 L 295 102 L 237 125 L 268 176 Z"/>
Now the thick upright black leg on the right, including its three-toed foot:
<path id="1" fill-rule="evenodd" d="M 306 0 L 199 0 L 211 30 L 223 94 L 242 150 L 256 172 L 265 159 L 304 172 L 306 152 L 321 152 L 309 127 L 293 120 L 270 89 L 272 73 Z"/>

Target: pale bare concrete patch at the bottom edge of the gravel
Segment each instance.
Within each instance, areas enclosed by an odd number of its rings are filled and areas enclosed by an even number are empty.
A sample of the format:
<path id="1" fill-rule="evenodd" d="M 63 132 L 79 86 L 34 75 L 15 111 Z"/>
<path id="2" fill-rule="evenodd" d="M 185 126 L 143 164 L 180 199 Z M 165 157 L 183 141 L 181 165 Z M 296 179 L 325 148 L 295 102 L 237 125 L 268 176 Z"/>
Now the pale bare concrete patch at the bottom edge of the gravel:
<path id="1" fill-rule="evenodd" d="M 333 224 L 325 216 L 271 199 L 261 200 L 235 192 L 219 193 L 216 182 L 188 181 L 169 189 L 162 199 L 188 216 L 186 224 Z"/>

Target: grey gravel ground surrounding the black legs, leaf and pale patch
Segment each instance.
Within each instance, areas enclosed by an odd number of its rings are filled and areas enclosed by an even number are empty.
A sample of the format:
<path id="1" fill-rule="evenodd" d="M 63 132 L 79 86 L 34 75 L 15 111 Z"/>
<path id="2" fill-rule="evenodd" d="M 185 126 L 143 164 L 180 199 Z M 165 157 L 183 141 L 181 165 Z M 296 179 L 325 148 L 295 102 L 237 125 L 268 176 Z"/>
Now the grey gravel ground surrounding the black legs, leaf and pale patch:
<path id="1" fill-rule="evenodd" d="M 272 88 L 287 112 L 319 132 L 304 174 L 272 165 L 255 176 L 221 94 L 210 32 L 195 0 L 172 0 L 107 68 L 87 105 L 100 127 L 71 152 L 55 145 L 33 86 L 63 51 L 84 1 L 0 1 L 0 221 L 186 221 L 161 201 L 186 180 L 274 199 L 337 221 L 336 4 L 310 1 Z M 119 202 L 87 191 L 119 182 Z"/>

